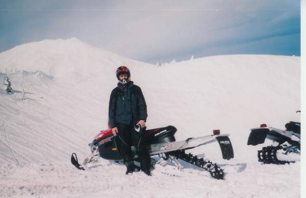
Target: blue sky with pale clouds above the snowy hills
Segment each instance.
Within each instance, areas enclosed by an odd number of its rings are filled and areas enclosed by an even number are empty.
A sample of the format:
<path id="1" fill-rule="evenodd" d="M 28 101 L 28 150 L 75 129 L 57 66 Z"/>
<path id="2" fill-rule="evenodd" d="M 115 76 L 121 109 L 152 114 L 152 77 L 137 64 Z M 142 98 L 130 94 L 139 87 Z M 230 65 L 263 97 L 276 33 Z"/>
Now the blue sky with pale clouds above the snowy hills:
<path id="1" fill-rule="evenodd" d="M 300 1 L 0 0 L 0 52 L 71 37 L 154 64 L 191 55 L 300 55 Z"/>

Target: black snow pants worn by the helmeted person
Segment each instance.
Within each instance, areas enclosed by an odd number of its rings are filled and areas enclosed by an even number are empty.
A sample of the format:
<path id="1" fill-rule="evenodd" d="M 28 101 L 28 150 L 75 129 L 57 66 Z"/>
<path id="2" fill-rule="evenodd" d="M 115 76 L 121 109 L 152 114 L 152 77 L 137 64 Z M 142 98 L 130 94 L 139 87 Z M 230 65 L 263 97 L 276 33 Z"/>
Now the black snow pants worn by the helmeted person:
<path id="1" fill-rule="evenodd" d="M 133 161 L 131 146 L 134 145 L 142 171 L 150 169 L 150 156 L 145 139 L 135 131 L 134 125 L 117 123 L 118 134 L 116 144 L 119 152 L 126 161 Z"/>

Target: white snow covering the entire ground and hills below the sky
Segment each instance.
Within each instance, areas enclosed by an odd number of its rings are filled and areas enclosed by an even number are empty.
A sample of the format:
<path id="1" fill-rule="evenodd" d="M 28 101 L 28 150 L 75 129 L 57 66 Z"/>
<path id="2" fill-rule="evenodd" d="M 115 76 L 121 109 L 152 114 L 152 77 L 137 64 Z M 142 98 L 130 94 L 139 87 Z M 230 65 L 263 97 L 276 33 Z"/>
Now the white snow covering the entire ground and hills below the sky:
<path id="1" fill-rule="evenodd" d="M 235 158 L 217 143 L 190 150 L 224 168 L 214 180 L 182 162 L 157 164 L 153 176 L 124 175 L 99 159 L 79 171 L 70 164 L 90 153 L 88 143 L 107 128 L 108 102 L 127 65 L 144 93 L 148 128 L 173 125 L 176 139 L 230 133 Z M 219 55 L 151 65 L 122 58 L 76 38 L 44 40 L 0 53 L 0 197 L 299 197 L 300 162 L 263 165 L 247 146 L 250 128 L 283 129 L 300 121 L 300 57 Z M 2 81 L 2 80 L 1 80 Z"/>

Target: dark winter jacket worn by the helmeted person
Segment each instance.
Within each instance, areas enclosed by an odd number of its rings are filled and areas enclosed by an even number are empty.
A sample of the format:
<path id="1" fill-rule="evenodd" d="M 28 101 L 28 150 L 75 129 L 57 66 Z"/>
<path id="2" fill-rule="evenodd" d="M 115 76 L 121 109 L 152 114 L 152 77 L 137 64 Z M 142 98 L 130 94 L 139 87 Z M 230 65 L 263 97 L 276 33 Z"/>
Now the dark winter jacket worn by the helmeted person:
<path id="1" fill-rule="evenodd" d="M 147 107 L 140 87 L 133 81 L 124 86 L 118 83 L 110 97 L 110 127 L 116 127 L 116 123 L 136 124 L 140 120 L 146 121 L 146 118 Z"/>

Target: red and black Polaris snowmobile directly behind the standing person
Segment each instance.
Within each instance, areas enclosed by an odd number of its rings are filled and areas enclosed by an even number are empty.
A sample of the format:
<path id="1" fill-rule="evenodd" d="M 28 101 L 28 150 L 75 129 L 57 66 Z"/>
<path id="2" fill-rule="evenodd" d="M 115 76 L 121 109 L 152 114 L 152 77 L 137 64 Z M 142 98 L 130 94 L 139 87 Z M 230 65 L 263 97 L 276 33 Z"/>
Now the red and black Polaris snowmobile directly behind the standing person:
<path id="1" fill-rule="evenodd" d="M 177 159 L 181 159 L 195 166 L 208 171 L 212 178 L 223 179 L 224 173 L 216 163 L 211 161 L 205 161 L 203 158 L 197 158 L 197 156 L 191 153 L 186 154 L 185 151 L 193 149 L 201 145 L 207 145 L 213 142 L 218 142 L 221 148 L 223 159 L 230 160 L 234 158 L 234 151 L 229 134 L 220 134 L 220 130 L 214 130 L 213 135 L 207 135 L 197 138 L 187 138 L 183 141 L 176 141 L 174 134 L 176 128 L 174 126 L 167 126 L 162 128 L 145 130 L 141 129 L 140 125 L 135 125 L 135 131 L 141 132 L 142 137 L 146 139 L 148 143 L 148 150 L 150 156 L 158 155 L 164 160 L 172 159 L 177 166 L 182 167 Z M 116 145 L 115 136 L 112 133 L 112 129 L 100 131 L 92 143 L 90 143 L 91 155 L 89 155 L 83 162 L 83 165 L 79 164 L 77 155 L 72 153 L 71 163 L 79 168 L 85 170 L 84 166 L 91 162 L 95 156 L 102 157 L 108 160 L 123 161 L 120 155 L 120 149 Z M 137 163 L 137 153 L 135 147 L 132 146 L 132 156 Z M 151 158 L 151 161 L 157 161 Z M 137 164 L 136 164 L 137 165 Z"/>

